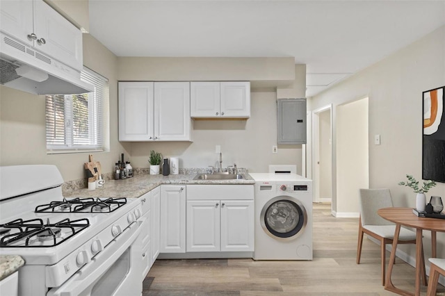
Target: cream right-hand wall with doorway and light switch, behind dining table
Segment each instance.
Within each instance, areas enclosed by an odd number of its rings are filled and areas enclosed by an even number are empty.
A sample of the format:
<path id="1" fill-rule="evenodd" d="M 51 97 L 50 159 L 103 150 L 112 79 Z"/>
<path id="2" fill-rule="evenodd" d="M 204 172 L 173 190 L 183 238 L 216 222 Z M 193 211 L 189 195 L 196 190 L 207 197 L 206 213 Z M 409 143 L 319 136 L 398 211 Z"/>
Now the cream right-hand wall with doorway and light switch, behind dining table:
<path id="1" fill-rule="evenodd" d="M 389 188 L 395 206 L 415 206 L 415 194 L 398 181 L 405 174 L 421 179 L 422 92 L 445 84 L 445 26 L 410 44 L 385 60 L 364 69 L 350 79 L 334 85 L 312 100 L 312 108 L 332 103 L 334 155 L 337 154 L 335 131 L 337 106 L 369 97 L 369 186 Z M 373 145 L 375 134 L 381 145 Z M 337 159 L 333 160 L 337 167 Z M 336 194 L 334 192 L 334 194 Z M 445 183 L 428 192 L 445 197 Z M 358 209 L 357 209 L 358 211 Z M 430 237 L 428 231 L 424 233 Z M 438 233 L 438 256 L 445 258 L 445 236 Z M 426 242 L 426 256 L 430 242 Z M 414 248 L 402 246 L 414 256 Z"/>

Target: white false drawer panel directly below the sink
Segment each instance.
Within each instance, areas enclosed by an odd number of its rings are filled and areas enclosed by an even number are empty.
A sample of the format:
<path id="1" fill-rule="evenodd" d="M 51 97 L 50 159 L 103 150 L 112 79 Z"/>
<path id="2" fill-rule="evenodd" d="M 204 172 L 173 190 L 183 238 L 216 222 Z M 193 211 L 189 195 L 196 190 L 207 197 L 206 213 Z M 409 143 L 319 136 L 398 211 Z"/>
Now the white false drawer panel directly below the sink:
<path id="1" fill-rule="evenodd" d="M 188 185 L 187 200 L 253 199 L 253 185 Z"/>

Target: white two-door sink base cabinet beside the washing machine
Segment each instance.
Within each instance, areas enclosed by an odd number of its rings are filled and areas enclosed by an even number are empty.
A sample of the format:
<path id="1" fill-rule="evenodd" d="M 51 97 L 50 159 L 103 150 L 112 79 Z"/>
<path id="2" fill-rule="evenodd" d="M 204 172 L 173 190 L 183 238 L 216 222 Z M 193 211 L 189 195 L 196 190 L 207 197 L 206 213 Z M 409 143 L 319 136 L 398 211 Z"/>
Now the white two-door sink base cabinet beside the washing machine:
<path id="1" fill-rule="evenodd" d="M 186 252 L 254 250 L 253 186 L 187 186 L 186 215 Z"/>

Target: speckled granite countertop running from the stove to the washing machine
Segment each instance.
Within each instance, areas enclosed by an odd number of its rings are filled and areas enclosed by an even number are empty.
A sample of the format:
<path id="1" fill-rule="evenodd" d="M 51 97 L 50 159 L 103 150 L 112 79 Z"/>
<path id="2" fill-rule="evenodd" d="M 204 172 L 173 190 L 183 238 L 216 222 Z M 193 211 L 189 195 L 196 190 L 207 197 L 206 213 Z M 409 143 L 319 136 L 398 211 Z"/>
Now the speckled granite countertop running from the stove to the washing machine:
<path id="1" fill-rule="evenodd" d="M 127 197 L 136 198 L 144 195 L 150 190 L 156 188 L 161 184 L 238 184 L 238 185 L 253 185 L 254 179 L 244 173 L 245 179 L 241 180 L 193 180 L 196 174 L 176 174 L 169 176 L 150 175 L 150 174 L 136 174 L 132 178 L 123 180 L 110 180 L 104 183 L 102 188 L 96 188 L 95 190 L 88 190 L 88 188 L 82 188 L 79 190 L 72 190 L 63 192 L 65 197 Z"/>

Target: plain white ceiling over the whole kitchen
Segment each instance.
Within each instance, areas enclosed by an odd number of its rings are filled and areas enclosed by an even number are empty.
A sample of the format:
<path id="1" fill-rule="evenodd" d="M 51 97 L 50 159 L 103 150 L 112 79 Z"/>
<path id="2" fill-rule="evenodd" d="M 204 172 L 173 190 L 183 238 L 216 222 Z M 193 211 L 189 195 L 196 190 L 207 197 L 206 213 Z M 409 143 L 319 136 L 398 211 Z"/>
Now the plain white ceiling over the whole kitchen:
<path id="1" fill-rule="evenodd" d="M 293 57 L 307 97 L 445 24 L 440 1 L 90 0 L 116 56 Z"/>

